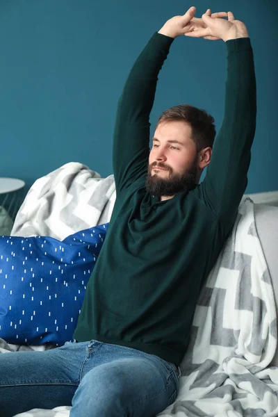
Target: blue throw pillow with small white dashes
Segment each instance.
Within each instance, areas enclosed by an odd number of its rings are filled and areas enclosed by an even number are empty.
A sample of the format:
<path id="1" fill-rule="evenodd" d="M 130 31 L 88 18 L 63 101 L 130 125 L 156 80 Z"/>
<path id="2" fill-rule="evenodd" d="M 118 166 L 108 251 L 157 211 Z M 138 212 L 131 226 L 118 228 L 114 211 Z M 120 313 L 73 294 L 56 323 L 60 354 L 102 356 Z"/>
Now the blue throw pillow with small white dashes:
<path id="1" fill-rule="evenodd" d="M 0 237 L 0 337 L 8 343 L 72 340 L 108 223 L 60 242 Z"/>

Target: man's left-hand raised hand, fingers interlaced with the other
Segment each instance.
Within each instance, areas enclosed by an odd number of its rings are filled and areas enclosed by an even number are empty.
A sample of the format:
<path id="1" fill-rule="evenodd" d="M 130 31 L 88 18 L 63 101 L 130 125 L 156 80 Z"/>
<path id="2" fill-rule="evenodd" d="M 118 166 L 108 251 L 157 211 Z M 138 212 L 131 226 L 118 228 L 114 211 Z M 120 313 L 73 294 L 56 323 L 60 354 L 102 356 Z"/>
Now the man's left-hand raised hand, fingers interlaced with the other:
<path id="1" fill-rule="evenodd" d="M 193 33 L 206 28 L 206 24 L 203 19 L 194 17 L 196 13 L 196 8 L 190 7 L 185 15 L 174 16 L 163 25 L 158 33 L 163 35 L 170 36 L 170 38 L 177 38 L 180 35 L 186 35 L 186 33 Z M 226 12 L 213 13 L 211 17 L 227 17 Z M 213 40 L 218 40 L 219 38 L 215 36 L 210 36 Z"/>

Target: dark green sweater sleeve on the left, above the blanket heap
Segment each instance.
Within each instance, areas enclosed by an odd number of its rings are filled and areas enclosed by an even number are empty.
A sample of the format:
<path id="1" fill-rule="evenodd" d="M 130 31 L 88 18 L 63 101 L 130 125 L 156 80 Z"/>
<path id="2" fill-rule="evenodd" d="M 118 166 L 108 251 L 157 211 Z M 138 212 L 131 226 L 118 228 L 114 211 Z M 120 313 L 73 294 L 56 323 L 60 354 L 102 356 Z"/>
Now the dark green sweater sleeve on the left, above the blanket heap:
<path id="1" fill-rule="evenodd" d="M 134 63 L 118 101 L 113 137 L 113 172 L 117 191 L 147 174 L 149 114 L 154 104 L 158 72 L 173 40 L 154 33 Z"/>

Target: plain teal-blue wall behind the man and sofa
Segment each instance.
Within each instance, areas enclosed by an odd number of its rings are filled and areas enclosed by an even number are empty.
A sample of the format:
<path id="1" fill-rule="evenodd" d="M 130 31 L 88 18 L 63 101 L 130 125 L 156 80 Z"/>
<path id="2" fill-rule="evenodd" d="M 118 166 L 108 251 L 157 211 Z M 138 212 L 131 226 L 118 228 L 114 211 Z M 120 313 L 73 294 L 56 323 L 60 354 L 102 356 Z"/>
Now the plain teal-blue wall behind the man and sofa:
<path id="1" fill-rule="evenodd" d="M 232 10 L 247 26 L 258 90 L 247 192 L 278 190 L 276 0 L 1 0 L 0 177 L 24 179 L 28 189 L 70 161 L 111 174 L 117 99 L 131 65 L 154 31 L 192 5 L 197 15 Z M 224 42 L 175 40 L 152 133 L 162 111 L 181 103 L 205 108 L 219 130 L 225 79 Z"/>

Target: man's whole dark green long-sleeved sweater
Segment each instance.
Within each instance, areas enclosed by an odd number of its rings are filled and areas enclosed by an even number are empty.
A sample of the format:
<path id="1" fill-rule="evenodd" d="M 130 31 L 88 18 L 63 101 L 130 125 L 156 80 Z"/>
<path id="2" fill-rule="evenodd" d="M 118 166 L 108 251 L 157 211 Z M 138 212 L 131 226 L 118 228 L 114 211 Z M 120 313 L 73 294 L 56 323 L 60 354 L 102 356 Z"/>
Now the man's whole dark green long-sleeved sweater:
<path id="1" fill-rule="evenodd" d="M 160 202 L 145 190 L 149 113 L 171 43 L 154 33 L 120 97 L 113 145 L 117 198 L 74 338 L 125 345 L 179 365 L 200 286 L 247 186 L 256 81 L 250 39 L 227 41 L 224 122 L 206 178 L 188 194 Z"/>

